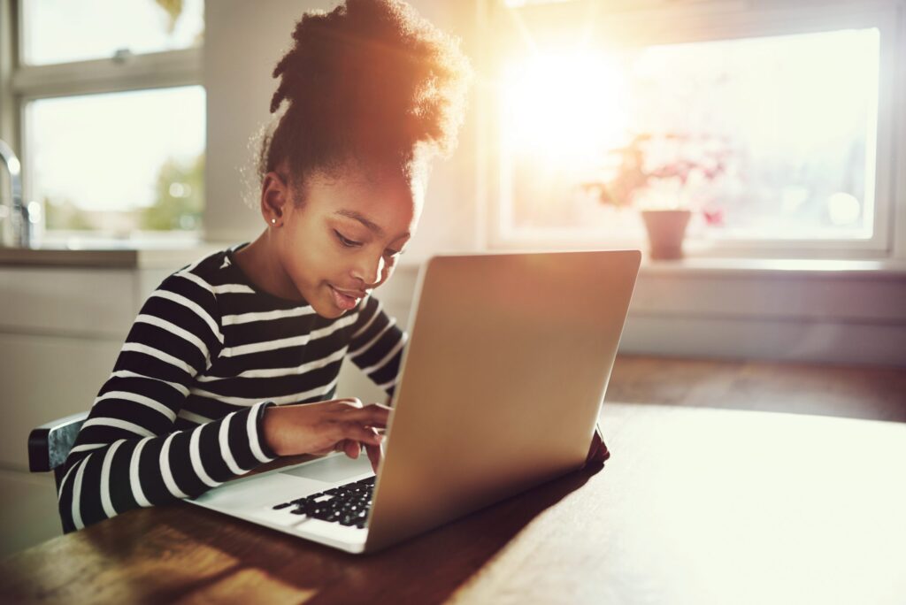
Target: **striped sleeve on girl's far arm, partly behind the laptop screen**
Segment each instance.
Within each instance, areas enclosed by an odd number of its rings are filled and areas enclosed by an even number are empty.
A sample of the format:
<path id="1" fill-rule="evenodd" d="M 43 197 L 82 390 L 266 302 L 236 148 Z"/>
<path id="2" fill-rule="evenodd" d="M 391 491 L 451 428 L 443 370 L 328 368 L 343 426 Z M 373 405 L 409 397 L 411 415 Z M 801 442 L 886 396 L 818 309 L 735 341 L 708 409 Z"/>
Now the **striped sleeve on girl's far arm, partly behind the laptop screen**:
<path id="1" fill-rule="evenodd" d="M 400 374 L 402 351 L 407 335 L 396 320 L 382 309 L 380 301 L 369 297 L 362 303 L 359 318 L 352 328 L 347 357 L 392 396 Z"/>

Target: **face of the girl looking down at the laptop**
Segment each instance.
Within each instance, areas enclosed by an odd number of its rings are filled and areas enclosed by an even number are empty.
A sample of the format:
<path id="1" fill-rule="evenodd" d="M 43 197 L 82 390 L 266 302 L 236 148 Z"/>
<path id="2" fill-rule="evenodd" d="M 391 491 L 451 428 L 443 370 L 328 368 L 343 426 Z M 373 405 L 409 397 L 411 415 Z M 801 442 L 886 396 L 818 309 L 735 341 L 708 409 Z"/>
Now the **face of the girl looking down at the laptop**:
<path id="1" fill-rule="evenodd" d="M 390 278 L 415 233 L 422 193 L 401 174 L 347 168 L 309 178 L 304 200 L 290 194 L 274 229 L 276 252 L 315 312 L 340 317 Z"/>

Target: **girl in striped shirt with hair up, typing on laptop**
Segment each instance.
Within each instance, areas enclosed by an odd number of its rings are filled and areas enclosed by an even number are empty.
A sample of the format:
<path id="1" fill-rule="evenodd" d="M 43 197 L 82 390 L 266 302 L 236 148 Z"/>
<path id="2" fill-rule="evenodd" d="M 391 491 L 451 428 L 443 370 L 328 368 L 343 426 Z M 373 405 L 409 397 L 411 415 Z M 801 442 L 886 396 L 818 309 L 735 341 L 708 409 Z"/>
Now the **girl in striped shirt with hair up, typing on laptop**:
<path id="1" fill-rule="evenodd" d="M 337 376 L 349 359 L 393 393 L 406 337 L 371 291 L 415 233 L 429 155 L 453 147 L 469 68 L 397 0 L 306 14 L 293 38 L 259 158 L 265 230 L 142 306 L 66 461 L 66 531 L 277 456 L 364 446 L 377 467 L 389 408 L 333 400 Z"/>

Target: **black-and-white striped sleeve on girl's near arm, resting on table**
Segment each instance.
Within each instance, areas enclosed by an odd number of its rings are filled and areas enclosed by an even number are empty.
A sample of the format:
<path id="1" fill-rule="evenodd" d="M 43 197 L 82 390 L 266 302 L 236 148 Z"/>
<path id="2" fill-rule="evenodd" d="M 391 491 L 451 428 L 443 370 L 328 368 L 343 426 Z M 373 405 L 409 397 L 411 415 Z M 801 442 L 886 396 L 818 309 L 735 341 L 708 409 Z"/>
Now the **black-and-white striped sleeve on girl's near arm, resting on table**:
<path id="1" fill-rule="evenodd" d="M 222 347 L 214 289 L 190 267 L 151 293 L 66 460 L 65 531 L 200 495 L 275 458 L 261 430 L 267 401 L 174 429 L 196 376 Z"/>

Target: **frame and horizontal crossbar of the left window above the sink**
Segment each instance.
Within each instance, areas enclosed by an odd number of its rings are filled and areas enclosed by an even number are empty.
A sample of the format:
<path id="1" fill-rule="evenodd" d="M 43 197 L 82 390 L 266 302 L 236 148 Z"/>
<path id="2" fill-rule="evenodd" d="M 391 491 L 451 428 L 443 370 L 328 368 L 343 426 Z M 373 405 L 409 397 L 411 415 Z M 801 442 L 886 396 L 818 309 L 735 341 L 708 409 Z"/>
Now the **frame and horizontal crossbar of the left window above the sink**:
<path id="1" fill-rule="evenodd" d="M 86 61 L 30 65 L 22 62 L 24 11 L 27 0 L 0 0 L 0 27 L 6 42 L 0 48 L 0 139 L 17 149 L 22 160 L 25 200 L 34 199 L 33 173 L 25 110 L 42 99 L 111 92 L 148 91 L 202 86 L 203 49 L 192 47 L 158 53 L 113 55 Z M 3 25 L 7 24 L 7 25 Z M 42 216 L 40 231 L 44 230 Z M 200 227 L 198 235 L 204 229 Z M 161 232 L 172 233 L 172 232 Z M 182 232 L 180 232 L 182 233 Z M 103 237 L 87 232 L 82 239 Z"/>

